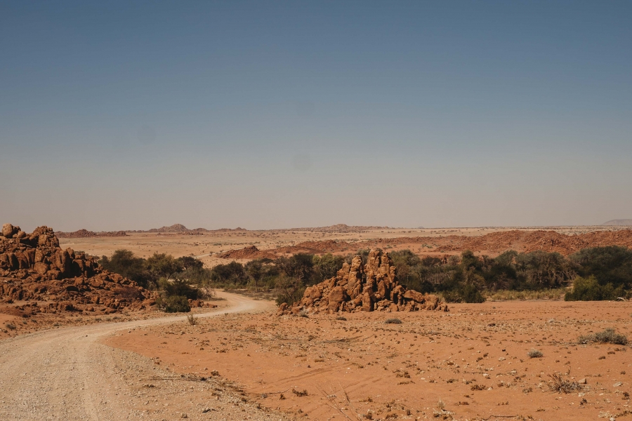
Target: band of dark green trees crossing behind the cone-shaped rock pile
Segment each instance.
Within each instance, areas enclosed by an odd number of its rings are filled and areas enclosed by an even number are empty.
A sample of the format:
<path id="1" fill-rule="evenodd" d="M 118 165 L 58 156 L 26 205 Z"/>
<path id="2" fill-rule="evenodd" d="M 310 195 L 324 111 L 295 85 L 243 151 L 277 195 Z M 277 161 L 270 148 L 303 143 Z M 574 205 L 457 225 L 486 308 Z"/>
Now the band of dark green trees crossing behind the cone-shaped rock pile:
<path id="1" fill-rule="evenodd" d="M 154 253 L 139 258 L 130 250 L 116 250 L 99 263 L 111 272 L 159 290 L 159 305 L 166 311 L 187 307 L 187 300 L 205 298 L 208 288 L 248 288 L 275 293 L 277 303 L 300 300 L 306 287 L 336 276 L 343 263 L 369 250 L 346 256 L 298 253 L 275 260 L 229 262 L 212 269 L 192 257 L 173 258 Z M 440 259 L 420 258 L 411 250 L 389 253 L 397 279 L 409 289 L 436 293 L 447 302 L 483 302 L 485 295 L 501 290 L 540 291 L 573 288 L 565 300 L 614 300 L 632 297 L 632 250 L 622 246 L 586 248 L 568 257 L 560 253 L 509 250 L 496 258 L 467 250 Z"/>

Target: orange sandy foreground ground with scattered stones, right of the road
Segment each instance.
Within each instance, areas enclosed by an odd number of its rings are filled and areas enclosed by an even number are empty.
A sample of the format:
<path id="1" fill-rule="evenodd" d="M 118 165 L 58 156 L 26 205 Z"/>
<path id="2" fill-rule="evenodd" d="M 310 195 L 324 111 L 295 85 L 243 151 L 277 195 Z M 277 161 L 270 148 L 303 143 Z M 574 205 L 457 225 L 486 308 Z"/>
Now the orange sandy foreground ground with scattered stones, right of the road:
<path id="1" fill-rule="evenodd" d="M 296 419 L 632 417 L 628 348 L 577 344 L 609 327 L 631 336 L 629 303 L 486 302 L 451 305 L 447 314 L 343 316 L 228 314 L 104 343 L 173 373 L 218 370 L 249 399 Z M 402 323 L 385 323 L 393 317 Z M 544 356 L 529 358 L 532 348 Z M 579 389 L 552 391 L 557 373 Z"/>

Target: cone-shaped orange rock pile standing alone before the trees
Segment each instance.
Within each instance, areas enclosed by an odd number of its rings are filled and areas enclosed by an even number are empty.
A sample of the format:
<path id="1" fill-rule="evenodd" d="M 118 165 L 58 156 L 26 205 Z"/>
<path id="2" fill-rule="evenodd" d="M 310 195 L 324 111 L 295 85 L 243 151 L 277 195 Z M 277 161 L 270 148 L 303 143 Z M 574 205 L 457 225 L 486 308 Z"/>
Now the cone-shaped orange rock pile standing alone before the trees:
<path id="1" fill-rule="evenodd" d="M 294 307 L 283 304 L 279 314 L 299 312 L 414 312 L 422 309 L 447 312 L 436 295 L 407 290 L 397 282 L 395 266 L 388 253 L 375 249 L 367 263 L 355 256 L 351 265 L 344 263 L 338 274 L 327 281 L 310 286 Z"/>

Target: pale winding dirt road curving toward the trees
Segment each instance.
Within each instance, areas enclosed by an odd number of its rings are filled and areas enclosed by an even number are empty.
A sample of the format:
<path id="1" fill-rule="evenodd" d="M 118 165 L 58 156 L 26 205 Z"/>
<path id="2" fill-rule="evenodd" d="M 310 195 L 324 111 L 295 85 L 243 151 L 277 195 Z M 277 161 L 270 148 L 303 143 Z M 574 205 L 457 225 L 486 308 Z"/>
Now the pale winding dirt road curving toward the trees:
<path id="1" fill-rule="evenodd" d="M 227 299 L 228 307 L 197 316 L 258 312 L 270 307 L 266 302 L 239 295 L 221 295 Z M 271 413 L 254 405 L 244 408 L 247 403 L 241 401 L 241 406 L 237 406 L 227 382 L 201 381 L 198 377 L 192 381 L 157 366 L 151 359 L 100 344 L 102 338 L 119 331 L 126 333 L 141 326 L 183 320 L 180 314 L 58 328 L 3 340 L 0 419 L 270 419 Z M 220 389 L 225 393 L 213 393 Z"/>

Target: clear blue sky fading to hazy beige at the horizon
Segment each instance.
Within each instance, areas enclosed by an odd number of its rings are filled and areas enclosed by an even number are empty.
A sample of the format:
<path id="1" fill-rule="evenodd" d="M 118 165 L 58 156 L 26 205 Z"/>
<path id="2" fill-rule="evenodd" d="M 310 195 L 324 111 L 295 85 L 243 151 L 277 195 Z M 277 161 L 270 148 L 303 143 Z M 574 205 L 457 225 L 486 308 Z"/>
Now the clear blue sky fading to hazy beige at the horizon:
<path id="1" fill-rule="evenodd" d="M 614 218 L 631 1 L 0 0 L 0 223 Z"/>

